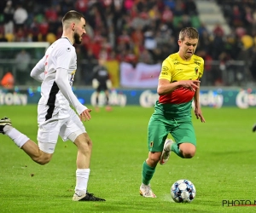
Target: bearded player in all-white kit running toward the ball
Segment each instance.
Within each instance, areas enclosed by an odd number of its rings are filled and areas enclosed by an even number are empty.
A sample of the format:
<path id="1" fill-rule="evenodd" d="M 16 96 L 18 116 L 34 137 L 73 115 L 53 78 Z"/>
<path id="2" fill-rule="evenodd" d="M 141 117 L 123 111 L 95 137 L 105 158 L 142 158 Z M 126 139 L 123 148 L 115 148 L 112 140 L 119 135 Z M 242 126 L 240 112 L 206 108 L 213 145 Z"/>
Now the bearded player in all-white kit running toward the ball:
<path id="1" fill-rule="evenodd" d="M 62 37 L 49 46 L 44 58 L 31 72 L 32 78 L 42 82 L 38 102 L 38 145 L 16 130 L 9 118 L 0 120 L 0 133 L 8 135 L 38 164 L 49 163 L 58 135 L 63 141 L 73 141 L 78 147 L 73 201 L 105 201 L 87 192 L 92 142 L 82 121 L 90 120 L 91 110 L 79 102 L 72 90 L 77 69 L 73 43 L 81 43 L 86 33 L 84 16 L 71 10 L 64 15 L 62 26 Z"/>

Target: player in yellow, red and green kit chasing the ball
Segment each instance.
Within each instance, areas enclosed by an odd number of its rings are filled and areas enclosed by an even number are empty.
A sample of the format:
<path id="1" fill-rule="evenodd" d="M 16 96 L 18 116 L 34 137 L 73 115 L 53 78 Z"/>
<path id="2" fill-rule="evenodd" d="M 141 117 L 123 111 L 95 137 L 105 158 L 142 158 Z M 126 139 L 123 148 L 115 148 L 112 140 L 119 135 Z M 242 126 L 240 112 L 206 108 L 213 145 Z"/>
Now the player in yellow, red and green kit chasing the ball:
<path id="1" fill-rule="evenodd" d="M 204 60 L 194 55 L 199 34 L 193 27 L 183 28 L 179 33 L 177 53 L 163 61 L 157 92 L 159 100 L 154 106 L 148 123 L 148 158 L 143 162 L 140 194 L 156 198 L 150 181 L 158 163 L 166 164 L 171 152 L 180 158 L 195 155 L 195 130 L 192 124 L 192 101 L 195 116 L 205 122 L 199 103 L 200 78 Z M 171 134 L 175 141 L 167 139 Z"/>

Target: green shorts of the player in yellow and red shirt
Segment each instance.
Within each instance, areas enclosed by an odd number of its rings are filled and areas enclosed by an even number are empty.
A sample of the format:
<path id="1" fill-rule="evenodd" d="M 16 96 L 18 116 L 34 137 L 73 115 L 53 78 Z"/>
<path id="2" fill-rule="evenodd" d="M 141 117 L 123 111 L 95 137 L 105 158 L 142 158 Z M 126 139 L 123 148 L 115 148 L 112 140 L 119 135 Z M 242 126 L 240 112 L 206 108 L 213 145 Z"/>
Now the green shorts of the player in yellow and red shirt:
<path id="1" fill-rule="evenodd" d="M 169 133 L 177 144 L 192 143 L 196 146 L 195 130 L 191 118 L 169 119 L 153 114 L 148 123 L 149 152 L 162 152 Z"/>

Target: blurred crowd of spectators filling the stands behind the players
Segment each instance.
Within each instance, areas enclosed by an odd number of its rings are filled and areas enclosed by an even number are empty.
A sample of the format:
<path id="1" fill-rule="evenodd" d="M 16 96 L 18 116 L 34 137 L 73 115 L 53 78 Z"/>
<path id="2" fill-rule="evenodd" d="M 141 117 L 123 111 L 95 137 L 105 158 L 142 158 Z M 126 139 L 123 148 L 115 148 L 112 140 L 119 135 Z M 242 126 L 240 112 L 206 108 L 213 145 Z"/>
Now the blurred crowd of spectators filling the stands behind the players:
<path id="1" fill-rule="evenodd" d="M 194 26 L 200 33 L 196 55 L 206 60 L 206 70 L 212 60 L 246 60 L 256 68 L 255 1 L 216 2 L 230 34 L 218 24 L 209 32 L 199 20 L 195 0 L 1 0 L 0 41 L 53 43 L 61 37 L 62 16 L 75 9 L 86 19 L 87 34 L 76 46 L 83 60 L 159 63 L 177 51 L 180 29 Z M 214 76 L 218 81 L 218 73 Z"/>

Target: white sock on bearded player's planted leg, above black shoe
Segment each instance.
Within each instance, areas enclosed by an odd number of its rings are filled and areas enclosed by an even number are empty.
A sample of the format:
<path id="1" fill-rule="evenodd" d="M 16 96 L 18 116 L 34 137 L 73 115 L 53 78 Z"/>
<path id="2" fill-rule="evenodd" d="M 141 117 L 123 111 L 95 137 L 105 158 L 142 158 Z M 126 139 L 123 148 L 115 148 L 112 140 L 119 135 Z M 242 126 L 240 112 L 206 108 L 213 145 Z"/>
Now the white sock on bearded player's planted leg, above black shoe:
<path id="1" fill-rule="evenodd" d="M 76 171 L 77 185 L 75 187 L 75 193 L 79 196 L 86 193 L 89 176 L 90 169 L 78 169 Z"/>

